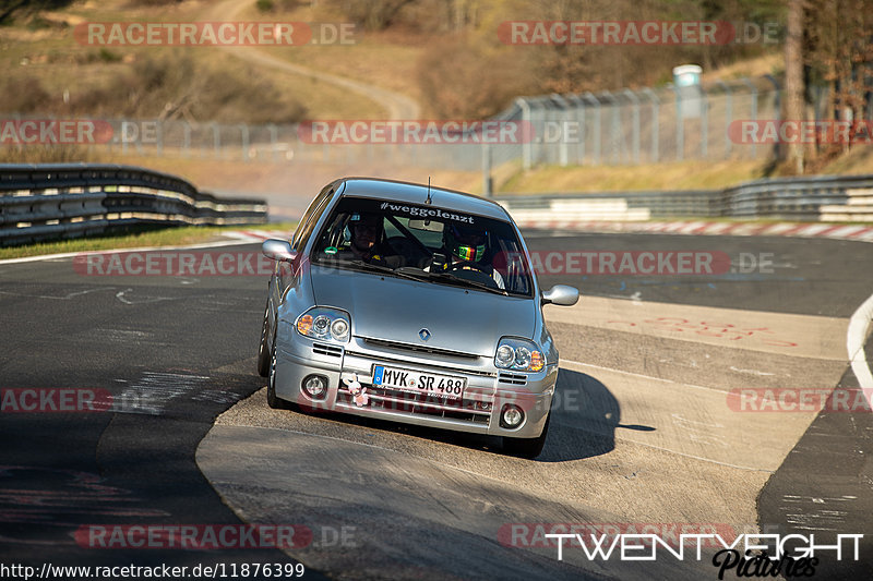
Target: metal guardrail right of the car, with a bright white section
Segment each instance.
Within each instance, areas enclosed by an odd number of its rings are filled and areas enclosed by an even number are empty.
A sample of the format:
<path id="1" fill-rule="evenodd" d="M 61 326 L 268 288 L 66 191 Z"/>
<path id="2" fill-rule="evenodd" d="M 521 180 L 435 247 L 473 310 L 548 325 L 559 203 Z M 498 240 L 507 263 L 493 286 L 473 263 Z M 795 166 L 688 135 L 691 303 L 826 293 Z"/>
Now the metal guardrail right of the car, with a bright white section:
<path id="1" fill-rule="evenodd" d="M 806 175 L 746 182 L 725 190 L 502 195 L 510 214 L 530 220 L 776 218 L 873 221 L 873 175 Z"/>

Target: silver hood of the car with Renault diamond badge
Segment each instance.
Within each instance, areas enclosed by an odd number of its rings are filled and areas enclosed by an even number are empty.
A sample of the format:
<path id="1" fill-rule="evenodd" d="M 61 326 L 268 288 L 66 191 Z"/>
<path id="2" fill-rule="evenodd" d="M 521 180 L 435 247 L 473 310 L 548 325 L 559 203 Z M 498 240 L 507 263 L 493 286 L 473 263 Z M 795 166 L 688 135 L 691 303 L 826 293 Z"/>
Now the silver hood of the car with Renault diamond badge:
<path id="1" fill-rule="evenodd" d="M 490 356 L 503 336 L 534 336 L 533 299 L 319 266 L 311 277 L 315 303 L 348 311 L 358 337 Z"/>

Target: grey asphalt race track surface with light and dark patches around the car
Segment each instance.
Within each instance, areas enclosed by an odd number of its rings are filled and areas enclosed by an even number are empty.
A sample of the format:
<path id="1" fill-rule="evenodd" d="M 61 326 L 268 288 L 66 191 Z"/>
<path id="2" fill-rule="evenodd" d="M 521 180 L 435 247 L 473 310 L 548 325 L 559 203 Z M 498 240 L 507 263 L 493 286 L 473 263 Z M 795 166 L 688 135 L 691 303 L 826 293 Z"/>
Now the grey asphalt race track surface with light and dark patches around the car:
<path id="1" fill-rule="evenodd" d="M 559 561 L 537 528 L 587 523 L 865 534 L 866 560 L 822 554 L 816 577 L 873 572 L 871 414 L 738 409 L 729 396 L 857 387 L 847 327 L 873 292 L 873 246 L 525 235 L 541 256 L 718 251 L 743 263 L 714 275 L 541 275 L 545 288 L 574 285 L 583 299 L 546 307 L 562 371 L 535 461 L 504 457 L 490 438 L 270 410 L 254 372 L 264 276 L 88 276 L 70 257 L 0 265 L 3 562 L 299 561 L 307 579 L 717 579 L 713 546 L 699 560 L 662 552 L 633 562 L 567 545 Z M 113 407 L 10 408 L 7 392 L 25 389 L 101 390 Z M 311 537 L 283 552 L 106 547 L 85 534 L 243 522 Z"/>

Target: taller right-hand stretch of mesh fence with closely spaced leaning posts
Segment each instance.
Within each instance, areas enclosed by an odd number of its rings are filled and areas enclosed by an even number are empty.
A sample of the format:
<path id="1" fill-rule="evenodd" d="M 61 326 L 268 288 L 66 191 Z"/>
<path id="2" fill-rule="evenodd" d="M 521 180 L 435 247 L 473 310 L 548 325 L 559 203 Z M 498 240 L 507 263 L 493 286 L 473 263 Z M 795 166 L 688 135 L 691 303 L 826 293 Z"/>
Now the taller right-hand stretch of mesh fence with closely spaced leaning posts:
<path id="1" fill-rule="evenodd" d="M 740 133 L 731 123 L 778 120 L 779 98 L 775 78 L 766 76 L 707 87 L 525 97 L 507 118 L 537 128 L 522 153 L 525 169 L 757 159 L 772 157 L 773 146 L 736 143 Z"/>

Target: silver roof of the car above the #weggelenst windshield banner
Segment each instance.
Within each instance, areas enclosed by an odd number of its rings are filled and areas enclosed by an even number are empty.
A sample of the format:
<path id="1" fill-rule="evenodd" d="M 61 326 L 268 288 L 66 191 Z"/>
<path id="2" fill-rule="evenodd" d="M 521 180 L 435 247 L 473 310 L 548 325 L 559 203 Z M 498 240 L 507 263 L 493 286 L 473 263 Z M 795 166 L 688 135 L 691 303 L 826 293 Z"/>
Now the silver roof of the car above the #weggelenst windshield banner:
<path id="1" fill-rule="evenodd" d="M 343 178 L 339 181 L 346 184 L 343 196 L 406 202 L 418 206 L 424 205 L 429 190 L 427 184 L 376 178 Z M 430 186 L 430 195 L 431 205 L 435 208 L 512 221 L 503 206 L 485 197 L 435 186 Z"/>

